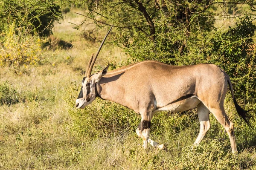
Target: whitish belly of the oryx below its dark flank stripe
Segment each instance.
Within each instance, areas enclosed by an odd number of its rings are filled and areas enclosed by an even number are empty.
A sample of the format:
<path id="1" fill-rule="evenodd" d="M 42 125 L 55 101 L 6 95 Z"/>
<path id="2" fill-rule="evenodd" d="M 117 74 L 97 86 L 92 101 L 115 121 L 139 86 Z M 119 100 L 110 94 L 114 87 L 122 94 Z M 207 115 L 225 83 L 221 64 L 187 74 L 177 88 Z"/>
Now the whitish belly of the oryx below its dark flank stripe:
<path id="1" fill-rule="evenodd" d="M 200 103 L 200 100 L 196 96 L 192 96 L 190 98 L 186 98 L 182 101 L 177 101 L 172 104 L 168 104 L 164 107 L 157 107 L 158 111 L 171 111 L 171 112 L 182 112 L 189 109 L 194 109 L 198 104 Z M 157 104 L 160 105 L 160 104 Z"/>

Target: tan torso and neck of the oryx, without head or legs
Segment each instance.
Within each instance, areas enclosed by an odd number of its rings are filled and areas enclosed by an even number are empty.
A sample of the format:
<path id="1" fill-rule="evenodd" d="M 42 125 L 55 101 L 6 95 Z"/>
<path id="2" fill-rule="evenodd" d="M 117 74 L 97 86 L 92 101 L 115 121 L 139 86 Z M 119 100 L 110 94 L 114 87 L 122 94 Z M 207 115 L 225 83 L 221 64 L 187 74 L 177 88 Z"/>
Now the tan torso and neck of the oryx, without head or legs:
<path id="1" fill-rule="evenodd" d="M 105 100 L 122 104 L 139 114 L 153 114 L 193 109 L 201 101 L 213 107 L 224 100 L 228 80 L 227 74 L 212 64 L 171 66 L 143 61 L 108 72 L 96 88 Z"/>

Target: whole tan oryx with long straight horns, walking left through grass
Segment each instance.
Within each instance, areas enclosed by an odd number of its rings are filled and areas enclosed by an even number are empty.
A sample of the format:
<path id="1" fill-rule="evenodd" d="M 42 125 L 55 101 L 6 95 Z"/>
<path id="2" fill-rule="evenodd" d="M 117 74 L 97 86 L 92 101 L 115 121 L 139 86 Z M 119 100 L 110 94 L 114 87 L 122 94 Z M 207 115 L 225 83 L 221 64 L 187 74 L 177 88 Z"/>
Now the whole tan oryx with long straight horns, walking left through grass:
<path id="1" fill-rule="evenodd" d="M 133 109 L 141 115 L 136 133 L 143 138 L 144 148 L 149 142 L 163 149 L 163 144 L 159 145 L 149 138 L 154 113 L 181 112 L 197 107 L 200 132 L 194 144 L 199 144 L 209 130 L 209 112 L 212 112 L 227 131 L 232 152 L 237 151 L 234 126 L 224 110 L 228 85 L 238 114 L 249 124 L 247 111 L 237 104 L 230 78 L 221 68 L 213 64 L 171 66 L 157 61 L 143 61 L 110 72 L 107 72 L 106 66 L 90 75 L 99 51 L 94 58 L 92 55 L 87 65 L 76 100 L 77 108 L 82 109 L 99 97 Z"/>

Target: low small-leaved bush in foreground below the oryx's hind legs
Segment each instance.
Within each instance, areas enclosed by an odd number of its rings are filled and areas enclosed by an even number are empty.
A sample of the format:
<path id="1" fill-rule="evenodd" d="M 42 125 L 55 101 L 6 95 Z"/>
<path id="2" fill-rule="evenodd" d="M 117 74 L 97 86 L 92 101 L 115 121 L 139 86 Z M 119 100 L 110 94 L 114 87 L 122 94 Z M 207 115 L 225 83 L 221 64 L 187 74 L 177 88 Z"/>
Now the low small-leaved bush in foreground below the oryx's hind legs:
<path id="1" fill-rule="evenodd" d="M 239 169 L 237 165 L 238 155 L 225 150 L 222 142 L 212 140 L 207 144 L 184 147 L 174 167 L 179 170 L 230 170 Z"/>

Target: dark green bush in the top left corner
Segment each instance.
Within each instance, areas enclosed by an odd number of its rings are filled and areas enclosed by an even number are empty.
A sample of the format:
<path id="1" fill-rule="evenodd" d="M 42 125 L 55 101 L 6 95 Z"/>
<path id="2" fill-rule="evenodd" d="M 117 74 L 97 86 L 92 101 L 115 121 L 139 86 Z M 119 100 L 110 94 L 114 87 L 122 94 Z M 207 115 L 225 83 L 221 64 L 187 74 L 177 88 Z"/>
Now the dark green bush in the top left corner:
<path id="1" fill-rule="evenodd" d="M 40 36 L 52 33 L 53 21 L 61 17 L 60 6 L 53 0 L 3 0 L 0 3 L 0 31 L 7 24 L 32 30 Z M 1 30 L 2 29 L 2 30 Z"/>

